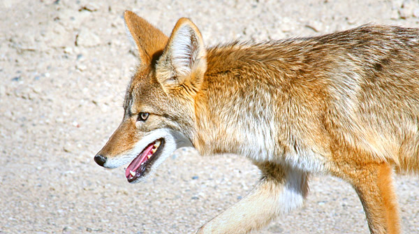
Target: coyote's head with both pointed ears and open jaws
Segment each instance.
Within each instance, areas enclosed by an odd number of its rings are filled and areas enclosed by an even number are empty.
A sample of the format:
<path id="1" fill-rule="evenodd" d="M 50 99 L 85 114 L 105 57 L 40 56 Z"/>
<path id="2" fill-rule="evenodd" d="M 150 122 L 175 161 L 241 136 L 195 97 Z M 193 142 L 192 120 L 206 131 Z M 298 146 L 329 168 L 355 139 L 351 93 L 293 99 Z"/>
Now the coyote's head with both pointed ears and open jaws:
<path id="1" fill-rule="evenodd" d="M 126 179 L 139 182 L 175 149 L 191 145 L 206 50 L 189 19 L 180 19 L 169 38 L 130 11 L 124 19 L 140 65 L 126 90 L 124 118 L 94 161 L 105 168 L 129 163 Z"/>

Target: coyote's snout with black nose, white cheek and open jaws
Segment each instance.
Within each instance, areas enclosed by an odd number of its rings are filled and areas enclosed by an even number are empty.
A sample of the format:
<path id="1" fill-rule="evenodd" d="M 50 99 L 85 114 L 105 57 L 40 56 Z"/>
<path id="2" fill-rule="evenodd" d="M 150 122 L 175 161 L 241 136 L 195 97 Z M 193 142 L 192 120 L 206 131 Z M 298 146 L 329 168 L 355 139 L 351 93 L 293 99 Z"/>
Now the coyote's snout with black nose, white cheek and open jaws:
<path id="1" fill-rule="evenodd" d="M 147 119 L 145 115 L 142 117 Z M 129 163 L 125 176 L 130 183 L 144 180 L 175 149 L 191 145 L 181 133 L 170 129 L 156 129 L 143 136 L 137 133 L 135 138 L 126 139 L 128 126 L 125 124 L 128 123 L 123 121 L 103 149 L 94 156 L 94 161 L 105 168 L 117 168 Z M 126 145 L 130 140 L 133 140 L 131 145 Z"/>

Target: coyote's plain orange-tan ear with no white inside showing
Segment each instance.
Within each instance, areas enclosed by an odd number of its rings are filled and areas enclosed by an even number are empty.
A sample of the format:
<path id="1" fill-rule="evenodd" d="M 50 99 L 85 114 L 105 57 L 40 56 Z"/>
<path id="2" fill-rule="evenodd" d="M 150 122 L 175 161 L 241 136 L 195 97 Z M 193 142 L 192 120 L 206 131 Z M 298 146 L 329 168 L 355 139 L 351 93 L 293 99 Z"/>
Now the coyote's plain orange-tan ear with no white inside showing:
<path id="1" fill-rule="evenodd" d="M 128 36 L 137 45 L 140 66 L 151 64 L 163 52 L 168 36 L 129 10 L 125 11 L 124 20 Z"/>

